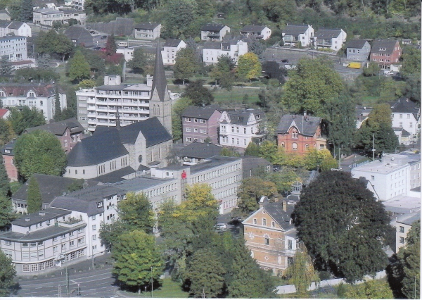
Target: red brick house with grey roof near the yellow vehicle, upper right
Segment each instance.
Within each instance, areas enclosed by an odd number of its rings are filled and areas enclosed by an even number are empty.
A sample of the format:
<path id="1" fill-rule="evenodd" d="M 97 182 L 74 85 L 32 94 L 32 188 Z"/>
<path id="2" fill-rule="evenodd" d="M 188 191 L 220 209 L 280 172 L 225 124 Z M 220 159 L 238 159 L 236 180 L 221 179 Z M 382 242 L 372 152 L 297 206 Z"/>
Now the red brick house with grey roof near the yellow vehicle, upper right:
<path id="1" fill-rule="evenodd" d="M 393 64 L 398 65 L 402 56 L 399 41 L 393 39 L 376 39 L 371 49 L 371 61 L 378 63 L 381 69 L 390 70 Z"/>

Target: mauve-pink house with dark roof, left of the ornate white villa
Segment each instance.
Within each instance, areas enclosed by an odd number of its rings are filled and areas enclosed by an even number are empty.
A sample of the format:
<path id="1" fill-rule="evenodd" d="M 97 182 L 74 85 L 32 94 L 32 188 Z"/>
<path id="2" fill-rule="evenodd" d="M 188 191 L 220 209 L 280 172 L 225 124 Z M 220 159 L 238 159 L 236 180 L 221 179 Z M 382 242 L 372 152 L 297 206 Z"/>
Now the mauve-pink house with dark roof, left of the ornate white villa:
<path id="1" fill-rule="evenodd" d="M 181 113 L 184 144 L 205 142 L 209 138 L 218 144 L 219 118 L 222 113 L 217 106 L 188 106 Z"/>

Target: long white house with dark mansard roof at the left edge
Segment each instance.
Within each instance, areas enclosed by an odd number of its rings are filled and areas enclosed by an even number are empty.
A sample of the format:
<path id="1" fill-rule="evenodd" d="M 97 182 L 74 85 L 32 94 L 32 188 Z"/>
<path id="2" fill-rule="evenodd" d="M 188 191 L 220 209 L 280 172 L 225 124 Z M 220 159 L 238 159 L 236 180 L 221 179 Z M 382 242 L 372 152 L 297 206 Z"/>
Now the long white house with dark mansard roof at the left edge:
<path id="1" fill-rule="evenodd" d="M 51 83 L 3 83 L 0 84 L 0 97 L 5 108 L 35 107 L 44 113 L 44 118 L 49 121 L 53 119 L 56 109 L 56 90 L 63 111 L 67 107 L 66 93 Z"/>

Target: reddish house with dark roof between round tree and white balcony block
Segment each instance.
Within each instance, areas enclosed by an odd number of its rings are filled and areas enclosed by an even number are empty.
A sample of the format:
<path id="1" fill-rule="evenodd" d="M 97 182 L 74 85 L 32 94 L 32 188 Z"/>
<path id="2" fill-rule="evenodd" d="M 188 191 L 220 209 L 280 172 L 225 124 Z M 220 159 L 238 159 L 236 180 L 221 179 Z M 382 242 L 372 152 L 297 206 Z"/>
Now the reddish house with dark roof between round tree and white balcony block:
<path id="1" fill-rule="evenodd" d="M 65 151 L 69 153 L 70 150 L 85 137 L 84 127 L 79 123 L 76 118 L 70 118 L 58 122 L 50 122 L 37 127 L 27 128 L 24 132 L 30 133 L 35 130 L 45 130 L 55 135 Z"/>

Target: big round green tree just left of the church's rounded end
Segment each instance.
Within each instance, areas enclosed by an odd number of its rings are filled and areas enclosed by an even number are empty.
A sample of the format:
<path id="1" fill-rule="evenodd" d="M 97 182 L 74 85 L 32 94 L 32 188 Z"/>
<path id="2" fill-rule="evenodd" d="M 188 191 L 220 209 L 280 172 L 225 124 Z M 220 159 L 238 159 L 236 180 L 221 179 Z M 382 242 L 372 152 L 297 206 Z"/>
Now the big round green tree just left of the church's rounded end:
<path id="1" fill-rule="evenodd" d="M 65 172 L 65 151 L 50 132 L 35 130 L 21 136 L 14 151 L 15 165 L 23 180 L 29 179 L 34 173 L 60 176 Z"/>

